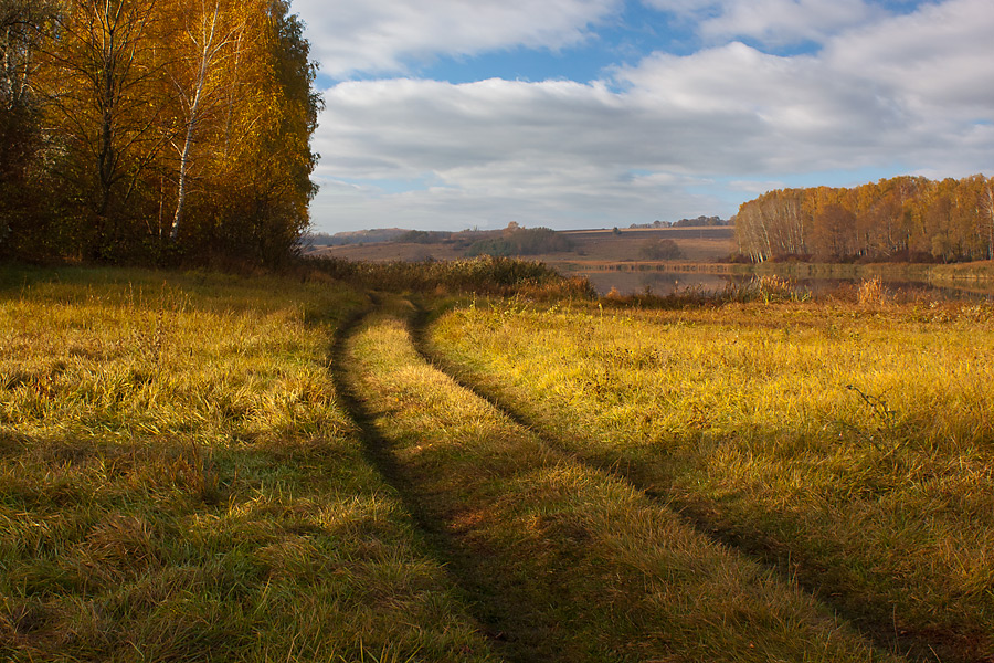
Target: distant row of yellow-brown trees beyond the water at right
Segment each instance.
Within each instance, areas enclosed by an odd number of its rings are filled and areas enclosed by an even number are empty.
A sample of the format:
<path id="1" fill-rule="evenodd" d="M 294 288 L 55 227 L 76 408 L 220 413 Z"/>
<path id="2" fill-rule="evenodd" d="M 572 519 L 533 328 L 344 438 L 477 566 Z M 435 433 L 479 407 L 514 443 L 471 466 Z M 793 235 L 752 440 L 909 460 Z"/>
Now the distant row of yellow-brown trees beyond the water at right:
<path id="1" fill-rule="evenodd" d="M 734 224 L 740 252 L 754 262 L 992 260 L 994 178 L 780 189 L 743 203 Z"/>

